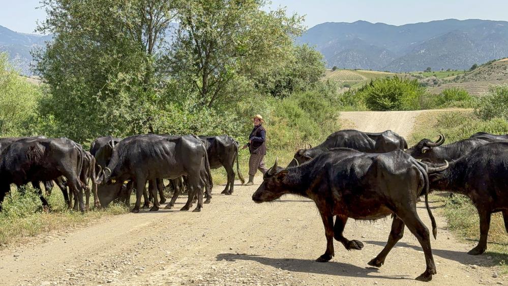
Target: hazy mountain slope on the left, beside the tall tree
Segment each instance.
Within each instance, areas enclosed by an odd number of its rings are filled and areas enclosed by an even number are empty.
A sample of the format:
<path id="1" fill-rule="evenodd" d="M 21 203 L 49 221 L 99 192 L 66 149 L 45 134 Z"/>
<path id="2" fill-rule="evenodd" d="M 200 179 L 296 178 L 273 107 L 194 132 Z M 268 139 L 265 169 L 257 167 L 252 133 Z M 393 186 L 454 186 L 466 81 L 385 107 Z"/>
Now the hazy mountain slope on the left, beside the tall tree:
<path id="1" fill-rule="evenodd" d="M 17 33 L 0 26 L 0 51 L 6 51 L 9 58 L 24 75 L 32 75 L 29 64 L 32 61 L 30 50 L 34 47 L 44 46 L 51 36 L 40 36 Z"/>

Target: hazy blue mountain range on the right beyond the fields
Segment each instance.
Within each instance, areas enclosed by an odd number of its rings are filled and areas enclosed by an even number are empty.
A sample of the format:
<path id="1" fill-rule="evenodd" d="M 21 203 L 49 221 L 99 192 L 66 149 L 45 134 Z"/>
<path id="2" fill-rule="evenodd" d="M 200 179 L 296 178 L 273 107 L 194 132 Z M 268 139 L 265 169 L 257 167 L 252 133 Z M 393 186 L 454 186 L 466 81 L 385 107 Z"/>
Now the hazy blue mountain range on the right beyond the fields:
<path id="1" fill-rule="evenodd" d="M 328 67 L 416 71 L 469 69 L 508 56 L 508 22 L 447 19 L 401 26 L 322 23 L 296 39 L 315 45 Z"/>

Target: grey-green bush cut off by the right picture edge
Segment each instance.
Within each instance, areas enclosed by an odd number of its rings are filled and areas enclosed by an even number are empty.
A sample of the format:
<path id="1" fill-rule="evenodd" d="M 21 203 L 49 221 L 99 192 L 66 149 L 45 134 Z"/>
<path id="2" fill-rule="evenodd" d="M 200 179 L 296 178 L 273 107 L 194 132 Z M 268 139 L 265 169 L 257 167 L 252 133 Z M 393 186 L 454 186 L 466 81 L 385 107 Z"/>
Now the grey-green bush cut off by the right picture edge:
<path id="1" fill-rule="evenodd" d="M 489 87 L 489 92 L 481 98 L 475 114 L 483 120 L 493 118 L 508 120 L 508 84 Z"/>

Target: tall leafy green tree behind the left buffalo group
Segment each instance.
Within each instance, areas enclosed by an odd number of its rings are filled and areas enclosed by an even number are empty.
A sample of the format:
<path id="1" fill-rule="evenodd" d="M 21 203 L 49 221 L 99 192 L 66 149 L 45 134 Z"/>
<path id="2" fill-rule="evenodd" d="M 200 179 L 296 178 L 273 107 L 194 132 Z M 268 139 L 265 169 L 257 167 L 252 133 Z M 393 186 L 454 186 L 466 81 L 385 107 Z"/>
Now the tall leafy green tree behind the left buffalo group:
<path id="1" fill-rule="evenodd" d="M 85 141 L 151 131 L 156 50 L 174 17 L 172 3 L 42 1 L 48 17 L 38 32 L 55 35 L 34 52 L 49 87 L 40 113 L 56 125 L 49 135 Z"/>

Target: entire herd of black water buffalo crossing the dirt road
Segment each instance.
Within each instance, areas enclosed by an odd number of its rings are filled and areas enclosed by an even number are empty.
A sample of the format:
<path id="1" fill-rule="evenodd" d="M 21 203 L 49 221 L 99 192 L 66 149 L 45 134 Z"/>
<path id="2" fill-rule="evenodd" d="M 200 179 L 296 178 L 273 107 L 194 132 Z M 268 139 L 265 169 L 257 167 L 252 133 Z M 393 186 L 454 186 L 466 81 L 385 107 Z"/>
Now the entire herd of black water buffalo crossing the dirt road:
<path id="1" fill-rule="evenodd" d="M 383 265 L 407 226 L 421 244 L 427 265 L 416 279 L 429 281 L 436 274 L 430 234 L 416 212 L 417 199 L 425 195 L 435 238 L 437 227 L 428 205 L 429 189 L 464 194 L 477 208 L 480 241 L 469 254 L 481 254 L 487 249 L 492 213 L 502 212 L 508 231 L 508 198 L 504 195 L 508 188 L 508 135 L 479 132 L 449 145 L 443 145 L 444 141 L 440 135 L 436 141 L 423 139 L 408 148 L 406 140 L 390 130 L 341 130 L 316 147 L 298 150 L 287 167 L 279 166 L 276 160 L 252 199 L 256 203 L 270 202 L 284 194 L 312 199 L 323 220 L 327 241 L 318 262 L 332 259 L 334 238 L 348 250 L 363 248 L 361 241 L 343 236 L 348 218 L 376 220 L 392 215 L 388 242 L 369 265 Z M 166 208 L 173 207 L 186 188 L 188 198 L 182 210 L 189 210 L 196 199 L 194 211 L 211 202 L 210 169 L 226 169 L 223 194 L 233 192 L 235 163 L 244 183 L 238 168 L 238 142 L 228 135 L 147 134 L 124 139 L 107 136 L 97 138 L 89 152 L 68 138 L 0 138 L 0 154 L 0 211 L 11 184 L 23 190 L 23 185 L 32 183 L 43 207 L 48 209 L 40 184 L 50 194 L 56 183 L 69 208 L 81 211 L 89 208 L 91 189 L 96 208 L 107 207 L 113 201 L 130 205 L 135 189 L 132 211 L 139 212 L 142 196 L 144 207 L 153 200 L 151 211 L 159 210 L 160 204 L 166 202 L 164 179 L 174 190 Z"/>

